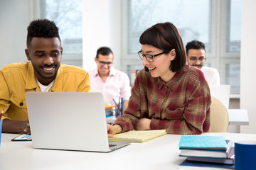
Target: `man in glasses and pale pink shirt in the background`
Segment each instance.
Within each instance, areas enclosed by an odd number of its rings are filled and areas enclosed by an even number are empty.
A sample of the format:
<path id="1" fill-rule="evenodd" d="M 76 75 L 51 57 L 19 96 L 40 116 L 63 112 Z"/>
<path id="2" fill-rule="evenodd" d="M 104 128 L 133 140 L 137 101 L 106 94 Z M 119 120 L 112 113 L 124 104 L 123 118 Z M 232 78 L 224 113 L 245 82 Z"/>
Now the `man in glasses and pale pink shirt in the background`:
<path id="1" fill-rule="evenodd" d="M 91 92 L 102 92 L 105 104 L 114 106 L 119 98 L 125 101 L 131 96 L 129 77 L 124 72 L 112 66 L 114 55 L 109 47 L 100 47 L 97 50 L 95 62 L 97 69 L 89 72 Z M 114 99 L 114 101 L 113 101 Z"/>

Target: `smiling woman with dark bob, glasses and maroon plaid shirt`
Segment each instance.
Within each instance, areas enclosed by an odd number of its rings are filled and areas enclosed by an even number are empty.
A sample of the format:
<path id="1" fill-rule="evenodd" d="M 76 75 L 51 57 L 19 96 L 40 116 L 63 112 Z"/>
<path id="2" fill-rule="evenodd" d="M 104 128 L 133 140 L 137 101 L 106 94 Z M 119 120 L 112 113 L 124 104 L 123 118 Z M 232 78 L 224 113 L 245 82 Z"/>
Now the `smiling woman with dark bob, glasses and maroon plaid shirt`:
<path id="1" fill-rule="evenodd" d="M 124 115 L 107 125 L 109 136 L 129 130 L 201 134 L 210 129 L 210 89 L 203 72 L 186 64 L 181 35 L 172 23 L 142 33 L 142 69 Z"/>

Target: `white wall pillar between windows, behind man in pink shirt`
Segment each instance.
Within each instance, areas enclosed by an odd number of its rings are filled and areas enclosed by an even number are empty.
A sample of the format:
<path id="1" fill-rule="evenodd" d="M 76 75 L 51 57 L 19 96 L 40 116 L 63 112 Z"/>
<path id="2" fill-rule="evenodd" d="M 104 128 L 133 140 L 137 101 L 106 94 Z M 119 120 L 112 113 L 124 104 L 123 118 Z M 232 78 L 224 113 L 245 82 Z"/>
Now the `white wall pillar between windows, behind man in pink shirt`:
<path id="1" fill-rule="evenodd" d="M 121 55 L 121 1 L 83 0 L 82 67 L 96 68 L 94 57 L 101 46 L 114 52 L 113 66 L 119 69 Z"/>

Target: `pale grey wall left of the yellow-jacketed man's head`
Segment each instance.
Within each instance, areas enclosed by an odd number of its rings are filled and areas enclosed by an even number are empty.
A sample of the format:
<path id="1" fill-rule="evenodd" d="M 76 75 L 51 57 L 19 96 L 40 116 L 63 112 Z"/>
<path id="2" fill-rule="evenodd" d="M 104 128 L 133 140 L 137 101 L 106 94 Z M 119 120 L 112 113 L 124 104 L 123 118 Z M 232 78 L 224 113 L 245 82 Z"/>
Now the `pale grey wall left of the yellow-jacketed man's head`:
<path id="1" fill-rule="evenodd" d="M 26 62 L 26 29 L 33 18 L 31 2 L 0 0 L 0 69 L 13 62 Z"/>

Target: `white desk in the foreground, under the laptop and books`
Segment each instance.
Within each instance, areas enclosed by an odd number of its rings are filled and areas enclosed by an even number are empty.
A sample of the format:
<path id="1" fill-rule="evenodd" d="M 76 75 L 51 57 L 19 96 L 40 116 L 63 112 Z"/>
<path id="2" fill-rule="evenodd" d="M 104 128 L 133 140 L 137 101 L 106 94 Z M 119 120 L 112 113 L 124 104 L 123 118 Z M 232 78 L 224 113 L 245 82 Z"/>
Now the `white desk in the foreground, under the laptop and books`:
<path id="1" fill-rule="evenodd" d="M 228 140 L 256 140 L 256 134 L 205 133 Z M 14 134 L 2 134 L 1 170 L 65 169 L 177 169 L 184 157 L 178 157 L 181 135 L 164 135 L 145 143 L 132 143 L 110 153 L 34 149 L 32 142 L 11 142 Z"/>

